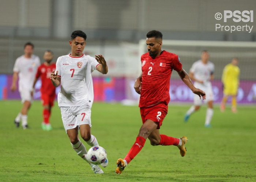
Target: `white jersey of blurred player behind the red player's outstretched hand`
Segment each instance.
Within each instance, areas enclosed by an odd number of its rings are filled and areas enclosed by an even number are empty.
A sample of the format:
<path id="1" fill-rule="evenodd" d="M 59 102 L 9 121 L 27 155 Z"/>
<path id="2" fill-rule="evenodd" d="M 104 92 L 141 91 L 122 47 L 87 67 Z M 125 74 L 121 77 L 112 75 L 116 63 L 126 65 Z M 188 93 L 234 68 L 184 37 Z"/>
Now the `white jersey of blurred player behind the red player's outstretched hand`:
<path id="1" fill-rule="evenodd" d="M 202 60 L 198 60 L 193 63 L 191 69 L 189 70 L 194 74 L 195 79 L 202 80 L 204 83 L 195 82 L 195 86 L 211 87 L 211 74 L 214 73 L 214 64 L 210 61 L 204 64 Z M 201 88 L 201 87 L 200 87 Z"/>

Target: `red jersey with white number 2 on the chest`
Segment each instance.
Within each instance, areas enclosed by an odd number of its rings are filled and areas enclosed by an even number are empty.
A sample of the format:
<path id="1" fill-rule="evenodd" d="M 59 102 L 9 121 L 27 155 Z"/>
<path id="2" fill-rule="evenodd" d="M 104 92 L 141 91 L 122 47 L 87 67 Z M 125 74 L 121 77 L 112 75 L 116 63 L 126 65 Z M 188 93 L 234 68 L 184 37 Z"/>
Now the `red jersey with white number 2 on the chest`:
<path id="1" fill-rule="evenodd" d="M 148 107 L 160 101 L 168 104 L 172 70 L 182 69 L 178 55 L 162 51 L 159 56 L 151 58 L 147 52 L 141 56 L 141 62 L 142 88 L 139 107 Z"/>

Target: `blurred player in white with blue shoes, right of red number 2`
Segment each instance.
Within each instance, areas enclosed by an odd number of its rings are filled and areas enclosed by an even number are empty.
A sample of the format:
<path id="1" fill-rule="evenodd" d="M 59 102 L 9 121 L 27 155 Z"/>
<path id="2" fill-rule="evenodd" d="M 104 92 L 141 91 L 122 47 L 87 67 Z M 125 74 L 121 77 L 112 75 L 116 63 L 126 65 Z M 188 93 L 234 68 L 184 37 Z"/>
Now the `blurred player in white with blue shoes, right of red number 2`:
<path id="1" fill-rule="evenodd" d="M 189 70 L 189 77 L 195 81 L 194 85 L 196 88 L 203 90 L 206 93 L 206 99 L 204 102 L 208 103 L 208 108 L 206 111 L 206 119 L 204 126 L 211 127 L 211 119 L 213 115 L 213 100 L 214 95 L 212 91 L 211 80 L 214 79 L 214 64 L 209 61 L 210 54 L 208 51 L 202 51 L 201 60 L 193 63 L 191 69 Z M 194 97 L 194 105 L 189 108 L 185 115 L 185 122 L 188 121 L 189 116 L 199 110 L 202 105 L 203 100 L 198 97 Z"/>

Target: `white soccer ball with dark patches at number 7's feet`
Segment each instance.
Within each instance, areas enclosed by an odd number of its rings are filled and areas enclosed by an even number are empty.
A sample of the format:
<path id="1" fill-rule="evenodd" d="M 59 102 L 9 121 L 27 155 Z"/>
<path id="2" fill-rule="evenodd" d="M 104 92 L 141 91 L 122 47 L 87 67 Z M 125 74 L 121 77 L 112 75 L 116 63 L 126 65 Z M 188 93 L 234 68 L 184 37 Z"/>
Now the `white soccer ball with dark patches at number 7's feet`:
<path id="1" fill-rule="evenodd" d="M 99 165 L 106 161 L 107 153 L 106 150 L 103 149 L 103 147 L 100 146 L 94 146 L 89 149 L 86 159 L 95 165 Z"/>

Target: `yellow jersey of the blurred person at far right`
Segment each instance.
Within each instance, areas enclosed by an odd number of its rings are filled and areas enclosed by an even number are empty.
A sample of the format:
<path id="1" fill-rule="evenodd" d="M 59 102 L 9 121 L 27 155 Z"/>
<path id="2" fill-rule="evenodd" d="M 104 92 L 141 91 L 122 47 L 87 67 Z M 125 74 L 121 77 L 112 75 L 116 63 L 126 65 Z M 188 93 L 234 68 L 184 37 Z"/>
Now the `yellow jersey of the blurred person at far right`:
<path id="1" fill-rule="evenodd" d="M 233 85 L 238 86 L 239 85 L 239 74 L 240 69 L 238 66 L 235 66 L 233 64 L 227 64 L 223 70 L 222 74 L 222 83 L 224 85 Z"/>

